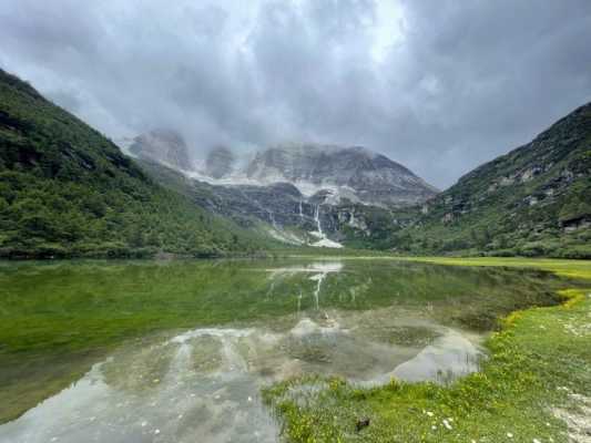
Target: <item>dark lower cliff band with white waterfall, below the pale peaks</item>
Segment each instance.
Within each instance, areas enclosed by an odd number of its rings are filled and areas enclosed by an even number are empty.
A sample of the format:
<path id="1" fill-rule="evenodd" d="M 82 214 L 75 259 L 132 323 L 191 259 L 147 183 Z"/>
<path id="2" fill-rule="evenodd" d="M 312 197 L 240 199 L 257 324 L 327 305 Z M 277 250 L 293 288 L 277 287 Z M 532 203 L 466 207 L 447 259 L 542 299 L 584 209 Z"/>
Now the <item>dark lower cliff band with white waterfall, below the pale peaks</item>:
<path id="1" fill-rule="evenodd" d="M 342 243 L 371 246 L 391 226 L 409 224 L 406 209 L 343 202 L 327 204 L 328 193 L 303 195 L 288 183 L 215 185 L 187 177 L 162 164 L 141 161 L 144 171 L 161 184 L 190 197 L 197 206 L 230 218 L 243 228 L 287 244 L 338 247 Z"/>

